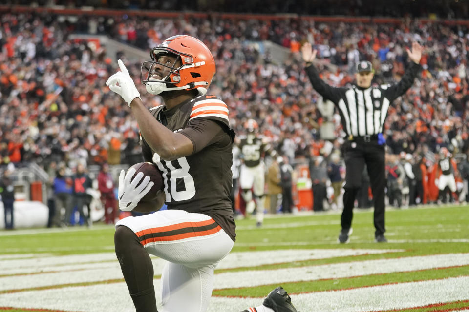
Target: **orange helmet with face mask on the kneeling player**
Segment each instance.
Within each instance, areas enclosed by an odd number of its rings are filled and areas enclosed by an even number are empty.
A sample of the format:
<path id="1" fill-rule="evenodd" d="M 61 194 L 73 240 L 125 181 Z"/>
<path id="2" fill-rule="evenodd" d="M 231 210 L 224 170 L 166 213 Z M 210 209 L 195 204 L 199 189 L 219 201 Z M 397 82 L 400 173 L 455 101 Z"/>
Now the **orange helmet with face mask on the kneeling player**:
<path id="1" fill-rule="evenodd" d="M 158 62 L 158 54 L 173 54 L 176 56 L 174 64 L 168 66 Z M 207 88 L 215 75 L 215 60 L 209 48 L 200 41 L 187 35 L 172 36 L 154 47 L 150 52 L 150 61 L 142 64 L 140 81 L 146 85 L 151 94 L 163 91 L 197 89 L 201 94 L 207 93 Z M 180 60 L 182 65 L 174 67 Z M 169 74 L 162 78 L 151 78 L 155 64 L 170 69 Z"/>

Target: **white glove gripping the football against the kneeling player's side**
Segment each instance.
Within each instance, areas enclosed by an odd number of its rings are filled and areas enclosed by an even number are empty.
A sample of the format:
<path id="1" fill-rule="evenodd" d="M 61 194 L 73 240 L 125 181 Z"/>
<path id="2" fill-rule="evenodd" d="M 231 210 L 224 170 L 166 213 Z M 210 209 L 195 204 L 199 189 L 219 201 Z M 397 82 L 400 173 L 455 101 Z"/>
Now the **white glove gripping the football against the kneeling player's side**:
<path id="1" fill-rule="evenodd" d="M 122 211 L 131 211 L 137 207 L 138 202 L 154 184 L 150 182 L 150 176 L 145 176 L 142 183 L 138 184 L 142 180 L 143 172 L 139 172 L 132 179 L 134 174 L 135 169 L 131 168 L 127 174 L 124 170 L 121 170 L 119 175 L 119 209 Z"/>

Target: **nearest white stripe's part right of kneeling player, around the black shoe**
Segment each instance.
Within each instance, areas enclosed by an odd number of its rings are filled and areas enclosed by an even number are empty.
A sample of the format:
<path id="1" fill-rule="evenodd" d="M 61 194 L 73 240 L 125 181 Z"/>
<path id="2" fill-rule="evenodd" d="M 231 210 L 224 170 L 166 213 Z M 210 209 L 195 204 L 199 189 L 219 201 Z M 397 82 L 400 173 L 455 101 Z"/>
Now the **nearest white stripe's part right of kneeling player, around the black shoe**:
<path id="1" fill-rule="evenodd" d="M 364 287 L 337 292 L 313 292 L 292 295 L 291 297 L 295 308 L 301 312 L 360 312 L 404 309 L 434 303 L 468 300 L 469 277 Z M 231 311 L 238 311 L 246 309 L 252 304 L 258 305 L 262 302 L 261 300 L 214 297 L 207 312 L 224 311 L 223 307 L 230 307 Z"/>

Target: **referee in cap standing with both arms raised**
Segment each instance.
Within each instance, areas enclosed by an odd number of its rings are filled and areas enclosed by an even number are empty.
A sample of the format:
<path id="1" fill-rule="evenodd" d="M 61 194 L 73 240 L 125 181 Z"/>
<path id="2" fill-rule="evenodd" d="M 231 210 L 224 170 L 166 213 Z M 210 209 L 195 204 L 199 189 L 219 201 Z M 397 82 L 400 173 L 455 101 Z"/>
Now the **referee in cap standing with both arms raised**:
<path id="1" fill-rule="evenodd" d="M 360 188 L 360 177 L 365 163 L 375 205 L 373 216 L 376 229 L 375 241 L 386 242 L 384 236 L 384 120 L 389 105 L 410 88 L 419 73 L 422 46 L 413 42 L 412 51 L 407 49 L 407 54 L 412 62 L 399 83 L 376 87 L 371 87 L 374 71 L 368 61 L 357 64 L 356 85 L 348 88 L 334 88 L 322 81 L 317 69 L 312 65 L 317 51 L 311 49 L 310 43 L 305 43 L 302 46 L 301 53 L 306 62 L 305 70 L 313 88 L 323 98 L 331 100 L 338 108 L 343 130 L 347 134 L 343 146 L 345 193 L 343 195 L 339 242 L 347 243 L 349 235 L 352 233 L 353 206 L 355 196 Z"/>

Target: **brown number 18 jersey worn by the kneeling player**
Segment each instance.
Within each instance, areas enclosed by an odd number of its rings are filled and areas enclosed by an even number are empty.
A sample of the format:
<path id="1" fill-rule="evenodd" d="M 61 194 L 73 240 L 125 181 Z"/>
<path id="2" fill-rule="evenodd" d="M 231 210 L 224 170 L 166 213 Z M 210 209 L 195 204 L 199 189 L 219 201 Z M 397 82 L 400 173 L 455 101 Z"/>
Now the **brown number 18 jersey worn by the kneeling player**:
<path id="1" fill-rule="evenodd" d="M 158 106 L 150 112 L 194 144 L 192 155 L 168 161 L 161 159 L 142 137 L 145 160 L 153 162 L 162 173 L 168 209 L 209 215 L 235 240 L 230 200 L 235 133 L 229 127 L 227 105 L 213 96 L 199 96 L 171 110 Z"/>

